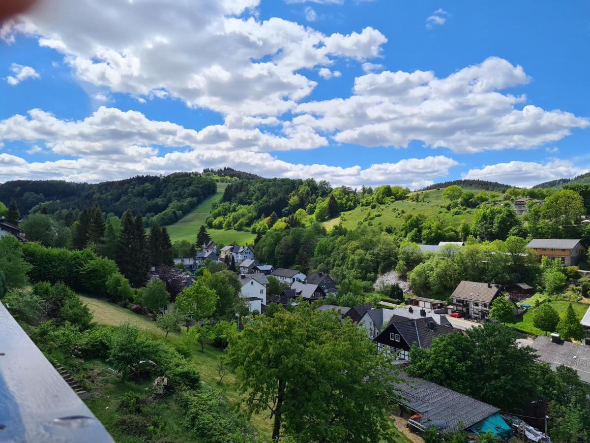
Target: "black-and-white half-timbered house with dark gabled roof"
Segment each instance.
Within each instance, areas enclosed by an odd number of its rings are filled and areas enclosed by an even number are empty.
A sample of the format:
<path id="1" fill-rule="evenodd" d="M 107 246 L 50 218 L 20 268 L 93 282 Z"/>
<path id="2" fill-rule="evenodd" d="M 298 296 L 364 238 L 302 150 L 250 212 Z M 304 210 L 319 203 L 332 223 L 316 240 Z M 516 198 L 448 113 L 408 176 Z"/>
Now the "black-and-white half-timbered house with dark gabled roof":
<path id="1" fill-rule="evenodd" d="M 416 343 L 419 348 L 430 347 L 439 335 L 450 334 L 452 327 L 438 325 L 430 317 L 404 318 L 393 315 L 387 326 L 374 339 L 379 350 L 396 360 L 409 360 L 409 350 Z"/>

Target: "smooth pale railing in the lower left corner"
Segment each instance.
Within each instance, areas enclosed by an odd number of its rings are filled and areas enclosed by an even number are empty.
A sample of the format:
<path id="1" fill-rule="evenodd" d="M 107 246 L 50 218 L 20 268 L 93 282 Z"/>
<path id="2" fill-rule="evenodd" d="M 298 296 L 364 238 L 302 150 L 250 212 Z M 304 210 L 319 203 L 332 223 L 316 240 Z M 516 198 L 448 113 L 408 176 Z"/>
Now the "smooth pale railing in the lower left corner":
<path id="1" fill-rule="evenodd" d="M 113 442 L 0 302 L 0 442 Z"/>

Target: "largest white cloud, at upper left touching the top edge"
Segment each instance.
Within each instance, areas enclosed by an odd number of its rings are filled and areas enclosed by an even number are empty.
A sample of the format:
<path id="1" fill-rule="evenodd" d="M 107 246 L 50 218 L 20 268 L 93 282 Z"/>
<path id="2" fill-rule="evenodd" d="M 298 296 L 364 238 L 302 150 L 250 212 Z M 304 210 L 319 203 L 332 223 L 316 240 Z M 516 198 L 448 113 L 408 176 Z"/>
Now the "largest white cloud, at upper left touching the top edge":
<path id="1" fill-rule="evenodd" d="M 78 79 L 149 99 L 168 94 L 225 115 L 277 116 L 316 82 L 302 69 L 337 58 L 365 61 L 386 38 L 373 28 L 324 35 L 253 12 L 260 0 L 45 0 L 5 24 L 63 53 Z M 100 23 L 100 26 L 96 24 Z"/>

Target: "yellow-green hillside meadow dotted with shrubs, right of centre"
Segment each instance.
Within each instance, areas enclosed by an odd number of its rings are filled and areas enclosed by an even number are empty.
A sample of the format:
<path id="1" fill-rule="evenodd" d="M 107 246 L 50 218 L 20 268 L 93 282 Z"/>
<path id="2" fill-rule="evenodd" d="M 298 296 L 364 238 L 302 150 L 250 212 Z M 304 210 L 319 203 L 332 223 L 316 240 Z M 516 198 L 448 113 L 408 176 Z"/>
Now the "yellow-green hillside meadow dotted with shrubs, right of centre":
<path id="1" fill-rule="evenodd" d="M 475 194 L 481 191 L 481 189 L 472 187 L 464 187 L 463 190 L 472 191 Z M 375 219 L 372 221 L 373 225 L 381 222 L 383 226 L 391 224 L 392 226 L 398 227 L 404 222 L 404 216 L 407 214 L 424 214 L 428 217 L 438 216 L 441 217 L 442 220 L 449 222 L 454 226 L 459 226 L 461 220 L 466 220 L 467 223 L 471 223 L 471 219 L 473 219 L 473 213 L 475 211 L 474 209 L 468 209 L 463 214 L 454 215 L 441 208 L 442 204 L 448 203 L 447 200 L 442 200 L 442 190 L 423 191 L 422 194 L 427 196 L 428 203 L 423 203 L 422 201 L 416 203 L 415 201 L 402 200 L 379 205 L 376 209 L 371 209 L 371 213 L 373 214 L 376 213 L 376 210 L 379 208 L 382 209 L 382 216 L 375 217 Z M 396 209 L 396 211 L 394 211 L 394 209 Z M 357 207 L 352 211 L 343 212 L 341 214 L 345 217 L 345 222 L 342 223 L 343 226 L 348 229 L 354 229 L 356 226 L 358 226 L 358 222 L 361 222 L 365 218 L 369 210 L 370 209 L 368 207 Z M 401 214 L 401 210 L 404 210 L 405 213 Z M 441 212 L 439 213 L 439 211 Z M 324 226 L 326 226 L 326 229 L 330 229 L 339 222 L 340 216 L 324 222 Z M 363 222 L 365 225 L 367 223 L 368 222 Z"/>

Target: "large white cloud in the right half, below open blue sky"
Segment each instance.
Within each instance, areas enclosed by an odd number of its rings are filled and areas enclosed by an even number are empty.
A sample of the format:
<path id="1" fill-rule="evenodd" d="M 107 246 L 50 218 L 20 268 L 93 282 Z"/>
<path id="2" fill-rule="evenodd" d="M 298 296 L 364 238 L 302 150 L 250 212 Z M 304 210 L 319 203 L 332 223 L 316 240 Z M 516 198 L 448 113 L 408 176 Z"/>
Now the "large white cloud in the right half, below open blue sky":
<path id="1" fill-rule="evenodd" d="M 454 152 L 534 148 L 590 125 L 569 112 L 518 109 L 525 96 L 499 92 L 528 81 L 522 67 L 497 57 L 443 79 L 432 71 L 369 73 L 355 79 L 348 99 L 301 103 L 289 124 L 342 143 L 407 147 L 419 140 Z"/>

